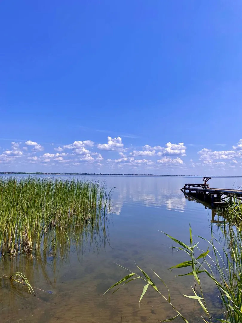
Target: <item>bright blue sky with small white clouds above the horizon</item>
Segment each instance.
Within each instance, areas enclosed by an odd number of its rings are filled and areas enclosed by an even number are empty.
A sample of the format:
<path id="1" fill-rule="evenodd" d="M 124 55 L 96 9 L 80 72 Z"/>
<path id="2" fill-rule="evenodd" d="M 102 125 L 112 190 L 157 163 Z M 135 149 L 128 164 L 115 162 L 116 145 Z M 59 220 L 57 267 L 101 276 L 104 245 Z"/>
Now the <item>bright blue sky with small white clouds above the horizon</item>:
<path id="1" fill-rule="evenodd" d="M 0 171 L 242 175 L 241 13 L 2 1 Z"/>

